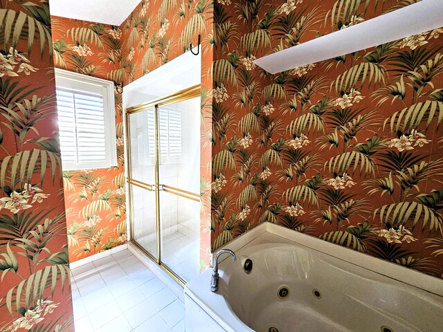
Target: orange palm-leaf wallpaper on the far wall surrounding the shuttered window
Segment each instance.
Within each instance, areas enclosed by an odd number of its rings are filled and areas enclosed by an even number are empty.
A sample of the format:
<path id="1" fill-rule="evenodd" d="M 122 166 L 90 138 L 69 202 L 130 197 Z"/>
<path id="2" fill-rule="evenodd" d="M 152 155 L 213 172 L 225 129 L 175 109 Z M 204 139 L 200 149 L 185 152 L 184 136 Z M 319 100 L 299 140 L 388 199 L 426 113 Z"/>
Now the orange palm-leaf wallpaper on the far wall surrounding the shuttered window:
<path id="1" fill-rule="evenodd" d="M 122 82 L 117 26 L 52 18 L 55 67 Z M 122 95 L 115 93 L 118 167 L 63 172 L 69 257 L 88 257 L 126 243 Z"/>

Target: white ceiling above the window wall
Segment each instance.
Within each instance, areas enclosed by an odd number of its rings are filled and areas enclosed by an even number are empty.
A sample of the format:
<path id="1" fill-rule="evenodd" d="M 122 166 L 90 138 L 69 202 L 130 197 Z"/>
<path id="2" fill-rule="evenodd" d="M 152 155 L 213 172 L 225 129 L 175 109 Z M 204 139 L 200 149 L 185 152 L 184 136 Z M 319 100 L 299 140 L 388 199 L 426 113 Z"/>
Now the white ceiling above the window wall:
<path id="1" fill-rule="evenodd" d="M 51 15 L 120 26 L 141 0 L 49 0 Z"/>

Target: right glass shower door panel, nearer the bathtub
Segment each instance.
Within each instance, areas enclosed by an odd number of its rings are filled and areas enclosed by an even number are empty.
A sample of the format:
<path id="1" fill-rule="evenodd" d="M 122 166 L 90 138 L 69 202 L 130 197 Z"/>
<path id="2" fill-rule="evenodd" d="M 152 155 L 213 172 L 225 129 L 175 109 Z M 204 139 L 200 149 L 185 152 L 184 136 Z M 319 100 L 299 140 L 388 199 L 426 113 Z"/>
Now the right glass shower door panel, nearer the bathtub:
<path id="1" fill-rule="evenodd" d="M 161 261 L 181 279 L 199 274 L 200 98 L 158 108 Z"/>

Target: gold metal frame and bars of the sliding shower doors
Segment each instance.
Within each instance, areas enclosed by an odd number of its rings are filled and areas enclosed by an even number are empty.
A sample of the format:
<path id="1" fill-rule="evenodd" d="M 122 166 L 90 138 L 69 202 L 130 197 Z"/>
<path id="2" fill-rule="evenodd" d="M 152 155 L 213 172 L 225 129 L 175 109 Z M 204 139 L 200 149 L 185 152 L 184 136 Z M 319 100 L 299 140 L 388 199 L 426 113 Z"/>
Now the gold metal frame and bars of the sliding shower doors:
<path id="1" fill-rule="evenodd" d="M 142 250 L 145 255 L 147 255 L 147 257 L 150 257 L 150 259 L 152 259 L 152 261 L 154 261 L 157 265 L 159 265 L 161 268 L 163 268 L 163 270 L 165 270 L 166 273 L 168 273 L 168 275 L 170 275 L 175 281 L 177 281 L 179 284 L 181 284 L 181 286 L 185 286 L 185 282 L 183 281 L 183 279 L 181 279 L 181 277 L 179 277 L 179 275 L 177 275 L 176 273 L 174 273 L 173 270 L 171 270 L 170 268 L 168 268 L 168 266 L 166 266 L 165 264 L 163 264 L 163 262 L 161 261 L 161 220 L 160 220 L 160 191 L 163 192 L 168 192 L 170 194 L 174 194 L 180 197 L 183 197 L 185 199 L 190 199 L 191 201 L 196 201 L 196 202 L 200 202 L 200 195 L 192 193 L 192 192 L 187 192 L 186 190 L 181 190 L 179 188 L 176 187 L 171 187 L 168 185 L 161 185 L 159 183 L 159 122 L 158 122 L 158 111 L 159 111 L 159 107 L 167 105 L 167 104 L 172 104 L 174 102 L 181 102 L 183 100 L 188 100 L 191 98 L 196 98 L 199 97 L 200 95 L 200 85 L 196 85 L 196 86 L 191 86 L 188 89 L 182 90 L 182 91 L 178 91 L 177 93 L 173 93 L 172 95 L 168 95 L 165 96 L 163 98 L 159 98 L 156 100 L 152 100 L 150 102 L 146 102 L 143 104 L 138 104 L 137 106 L 134 107 L 128 107 L 125 110 L 125 138 L 126 138 L 126 144 L 125 144 L 125 153 L 126 153 L 126 174 L 127 174 L 127 183 L 129 185 L 129 225 L 130 225 L 130 229 L 131 229 L 131 237 L 130 240 L 132 241 L 132 243 L 134 243 L 134 245 L 137 246 L 137 248 L 139 248 L 140 250 Z M 154 107 L 154 136 L 155 136 L 155 165 L 154 165 L 154 169 L 155 169 L 155 174 L 154 174 L 154 178 L 155 178 L 155 183 L 150 184 L 150 183 L 143 183 L 142 181 L 138 181 L 135 180 L 134 178 L 132 178 L 132 165 L 131 165 L 131 145 L 129 144 L 129 138 L 130 136 L 130 127 L 129 127 L 129 116 L 131 114 L 137 113 L 137 112 L 141 112 L 141 111 L 145 111 L 146 109 L 150 109 Z M 147 250 L 145 250 L 145 248 L 143 248 L 143 246 L 141 246 L 139 243 L 137 243 L 134 240 L 134 228 L 132 227 L 132 222 L 133 222 L 133 205 L 132 205 L 132 185 L 135 185 L 136 187 L 141 187 L 144 190 L 150 191 L 150 192 L 155 192 L 155 212 L 156 212 L 156 241 L 157 241 L 157 257 L 154 257 L 153 255 L 150 254 L 150 252 L 148 252 Z"/>

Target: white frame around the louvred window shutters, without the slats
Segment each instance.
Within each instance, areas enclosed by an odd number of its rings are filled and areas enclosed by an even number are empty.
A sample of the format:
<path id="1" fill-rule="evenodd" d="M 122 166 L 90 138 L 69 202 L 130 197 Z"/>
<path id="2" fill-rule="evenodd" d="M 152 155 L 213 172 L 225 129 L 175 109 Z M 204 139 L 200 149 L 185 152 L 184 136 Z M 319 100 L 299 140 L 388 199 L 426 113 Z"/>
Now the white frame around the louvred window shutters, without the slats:
<path id="1" fill-rule="evenodd" d="M 55 89 L 57 89 L 57 86 L 60 86 L 67 89 L 79 89 L 82 91 L 88 91 L 87 89 L 85 89 L 85 86 L 87 85 L 96 86 L 102 89 L 103 120 L 105 130 L 105 160 L 82 161 L 80 163 L 73 163 L 63 161 L 62 159 L 62 169 L 64 171 L 73 171 L 79 169 L 106 169 L 118 166 L 114 82 L 79 73 L 73 73 L 71 71 L 66 71 L 60 68 L 55 68 Z"/>

